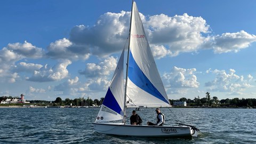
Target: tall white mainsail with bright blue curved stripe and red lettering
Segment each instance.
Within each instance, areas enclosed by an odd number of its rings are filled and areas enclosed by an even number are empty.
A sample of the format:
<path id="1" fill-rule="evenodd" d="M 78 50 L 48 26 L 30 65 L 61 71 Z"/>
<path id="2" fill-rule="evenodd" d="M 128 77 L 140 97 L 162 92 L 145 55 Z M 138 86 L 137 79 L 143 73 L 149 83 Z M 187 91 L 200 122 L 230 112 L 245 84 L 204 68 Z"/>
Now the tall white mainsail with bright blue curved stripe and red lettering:
<path id="1" fill-rule="evenodd" d="M 135 2 L 132 10 L 126 105 L 170 105 Z"/>

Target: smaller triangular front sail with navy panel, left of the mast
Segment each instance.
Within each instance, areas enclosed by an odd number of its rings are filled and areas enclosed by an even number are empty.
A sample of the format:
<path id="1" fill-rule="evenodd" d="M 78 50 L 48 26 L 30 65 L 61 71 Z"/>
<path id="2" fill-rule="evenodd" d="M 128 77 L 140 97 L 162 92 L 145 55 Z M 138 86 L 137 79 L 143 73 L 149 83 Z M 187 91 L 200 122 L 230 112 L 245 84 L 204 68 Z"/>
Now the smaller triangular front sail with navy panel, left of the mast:
<path id="1" fill-rule="evenodd" d="M 124 116 L 124 49 L 117 63 L 107 94 L 95 122 L 123 119 Z"/>

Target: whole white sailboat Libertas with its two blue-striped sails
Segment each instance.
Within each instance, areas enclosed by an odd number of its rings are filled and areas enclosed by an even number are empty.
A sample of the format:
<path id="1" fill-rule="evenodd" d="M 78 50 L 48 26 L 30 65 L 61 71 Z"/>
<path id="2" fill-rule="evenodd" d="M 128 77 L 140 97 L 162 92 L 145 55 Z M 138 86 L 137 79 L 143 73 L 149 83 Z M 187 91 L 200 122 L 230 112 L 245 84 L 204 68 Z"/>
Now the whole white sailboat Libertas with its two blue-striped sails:
<path id="1" fill-rule="evenodd" d="M 197 137 L 199 130 L 195 126 L 186 124 L 175 126 L 126 124 L 127 108 L 171 107 L 134 1 L 132 1 L 129 37 L 125 84 L 124 48 L 99 114 L 93 123 L 94 131 L 135 137 Z"/>

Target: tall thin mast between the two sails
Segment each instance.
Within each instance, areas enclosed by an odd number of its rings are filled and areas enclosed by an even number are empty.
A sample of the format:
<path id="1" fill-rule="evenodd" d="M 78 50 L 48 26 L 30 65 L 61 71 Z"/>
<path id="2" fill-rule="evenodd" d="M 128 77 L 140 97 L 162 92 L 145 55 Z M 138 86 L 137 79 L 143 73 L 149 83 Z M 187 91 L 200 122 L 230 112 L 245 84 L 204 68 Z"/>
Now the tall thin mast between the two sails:
<path id="1" fill-rule="evenodd" d="M 125 76 L 125 90 L 124 90 L 124 117 L 123 123 L 126 123 L 126 90 L 127 90 L 127 78 L 128 78 L 128 66 L 129 66 L 129 53 L 130 53 L 130 41 L 131 41 L 131 27 L 132 27 L 132 11 L 133 11 L 133 2 L 132 0 L 132 10 L 131 10 L 131 19 L 130 19 L 130 29 L 129 29 L 129 44 L 128 44 L 128 51 L 127 51 L 127 65 L 126 65 L 126 76 Z"/>

